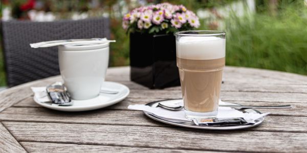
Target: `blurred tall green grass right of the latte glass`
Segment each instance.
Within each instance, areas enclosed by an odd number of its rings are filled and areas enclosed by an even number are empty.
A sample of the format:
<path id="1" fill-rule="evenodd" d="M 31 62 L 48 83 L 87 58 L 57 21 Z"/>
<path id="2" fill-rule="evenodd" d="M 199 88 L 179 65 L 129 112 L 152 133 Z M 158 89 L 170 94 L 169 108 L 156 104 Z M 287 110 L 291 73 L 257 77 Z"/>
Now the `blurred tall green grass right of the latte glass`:
<path id="1" fill-rule="evenodd" d="M 225 19 L 227 65 L 307 74 L 307 8 L 285 1 L 277 11 Z"/>

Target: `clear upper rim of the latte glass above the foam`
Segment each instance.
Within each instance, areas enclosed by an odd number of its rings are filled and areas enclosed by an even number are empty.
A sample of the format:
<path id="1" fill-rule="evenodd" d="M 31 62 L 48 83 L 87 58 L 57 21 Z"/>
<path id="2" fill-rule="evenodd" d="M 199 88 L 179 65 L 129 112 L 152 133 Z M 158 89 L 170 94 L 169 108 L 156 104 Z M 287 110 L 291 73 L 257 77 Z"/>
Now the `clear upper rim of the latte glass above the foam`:
<path id="1" fill-rule="evenodd" d="M 201 34 L 186 34 L 186 33 L 192 33 L 192 32 L 197 32 Z M 203 34 L 202 34 L 203 32 Z M 208 34 L 206 34 L 206 32 Z M 175 33 L 176 36 L 221 36 L 221 35 L 226 35 L 226 32 L 224 31 L 216 31 L 216 30 L 190 30 L 190 31 L 181 31 Z"/>

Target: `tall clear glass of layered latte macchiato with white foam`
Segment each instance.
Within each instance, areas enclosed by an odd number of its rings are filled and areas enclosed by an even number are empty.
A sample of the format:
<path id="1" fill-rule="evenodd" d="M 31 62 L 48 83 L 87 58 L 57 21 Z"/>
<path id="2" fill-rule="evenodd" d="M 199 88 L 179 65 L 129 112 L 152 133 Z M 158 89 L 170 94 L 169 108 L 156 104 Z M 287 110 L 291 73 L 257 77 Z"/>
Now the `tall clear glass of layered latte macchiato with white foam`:
<path id="1" fill-rule="evenodd" d="M 225 35 L 222 31 L 176 33 L 177 66 L 188 119 L 217 115 L 225 67 Z"/>

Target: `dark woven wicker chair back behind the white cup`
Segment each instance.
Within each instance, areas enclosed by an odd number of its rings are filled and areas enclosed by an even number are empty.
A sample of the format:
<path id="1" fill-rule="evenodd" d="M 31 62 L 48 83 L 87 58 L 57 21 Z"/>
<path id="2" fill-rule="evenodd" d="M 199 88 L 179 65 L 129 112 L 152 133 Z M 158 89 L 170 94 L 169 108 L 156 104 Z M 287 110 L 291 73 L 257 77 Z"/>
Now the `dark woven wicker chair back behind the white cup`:
<path id="1" fill-rule="evenodd" d="M 109 19 L 54 22 L 3 21 L 3 49 L 9 87 L 58 75 L 57 47 L 31 48 L 30 43 L 59 39 L 109 38 Z"/>

